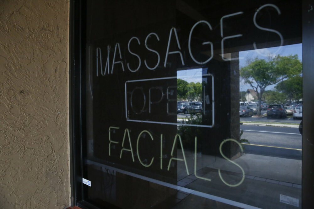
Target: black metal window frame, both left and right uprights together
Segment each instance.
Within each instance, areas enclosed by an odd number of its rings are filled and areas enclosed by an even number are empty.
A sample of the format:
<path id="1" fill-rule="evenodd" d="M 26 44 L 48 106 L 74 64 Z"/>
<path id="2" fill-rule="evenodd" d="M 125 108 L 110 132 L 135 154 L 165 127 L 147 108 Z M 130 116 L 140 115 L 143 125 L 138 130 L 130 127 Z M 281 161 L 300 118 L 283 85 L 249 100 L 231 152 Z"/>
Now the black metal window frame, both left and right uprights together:
<path id="1" fill-rule="evenodd" d="M 314 1 L 302 1 L 302 62 L 303 62 L 303 115 L 302 137 L 302 207 L 313 207 L 311 191 L 314 189 Z M 86 119 L 85 96 L 85 0 L 70 1 L 69 37 L 69 119 L 70 119 L 70 172 L 71 204 L 81 208 L 97 208 L 84 201 L 82 186 L 84 136 Z M 108 207 L 115 206 L 108 203 Z"/>

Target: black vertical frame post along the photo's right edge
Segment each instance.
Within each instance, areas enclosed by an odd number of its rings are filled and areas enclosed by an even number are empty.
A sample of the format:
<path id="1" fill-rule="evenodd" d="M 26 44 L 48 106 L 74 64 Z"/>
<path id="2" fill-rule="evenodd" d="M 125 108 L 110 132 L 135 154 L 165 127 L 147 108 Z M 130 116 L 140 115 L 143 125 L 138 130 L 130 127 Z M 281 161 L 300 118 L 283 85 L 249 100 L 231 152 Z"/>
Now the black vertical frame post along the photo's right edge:
<path id="1" fill-rule="evenodd" d="M 314 1 L 302 5 L 303 62 L 303 136 L 302 136 L 302 208 L 313 206 L 314 190 Z"/>

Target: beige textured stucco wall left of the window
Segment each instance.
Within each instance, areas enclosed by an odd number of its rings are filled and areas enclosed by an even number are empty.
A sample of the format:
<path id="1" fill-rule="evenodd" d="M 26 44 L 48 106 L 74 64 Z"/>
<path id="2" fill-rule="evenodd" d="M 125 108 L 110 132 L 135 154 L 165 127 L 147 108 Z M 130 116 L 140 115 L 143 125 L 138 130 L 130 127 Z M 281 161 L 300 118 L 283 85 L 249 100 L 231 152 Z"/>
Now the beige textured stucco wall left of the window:
<path id="1" fill-rule="evenodd" d="M 0 208 L 70 205 L 67 0 L 0 0 Z"/>

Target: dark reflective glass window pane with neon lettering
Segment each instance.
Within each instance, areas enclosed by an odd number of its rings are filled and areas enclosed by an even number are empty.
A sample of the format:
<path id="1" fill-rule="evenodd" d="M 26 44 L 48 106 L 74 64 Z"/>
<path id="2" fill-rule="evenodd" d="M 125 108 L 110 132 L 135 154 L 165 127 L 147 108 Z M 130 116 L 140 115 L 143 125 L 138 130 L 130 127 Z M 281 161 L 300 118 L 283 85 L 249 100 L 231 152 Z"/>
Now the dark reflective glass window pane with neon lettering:
<path id="1" fill-rule="evenodd" d="M 82 200 L 301 207 L 302 114 L 284 108 L 303 101 L 300 1 L 99 0 L 84 12 Z"/>

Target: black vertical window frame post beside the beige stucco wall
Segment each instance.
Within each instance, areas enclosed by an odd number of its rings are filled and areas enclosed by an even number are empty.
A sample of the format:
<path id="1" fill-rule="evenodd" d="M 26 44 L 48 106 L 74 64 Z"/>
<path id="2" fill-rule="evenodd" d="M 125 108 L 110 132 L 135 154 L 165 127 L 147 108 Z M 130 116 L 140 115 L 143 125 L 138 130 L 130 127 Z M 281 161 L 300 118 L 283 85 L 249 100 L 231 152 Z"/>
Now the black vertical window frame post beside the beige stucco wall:
<path id="1" fill-rule="evenodd" d="M 82 2 L 70 2 L 69 33 L 69 131 L 70 131 L 70 174 L 71 205 L 83 199 L 82 184 Z"/>

